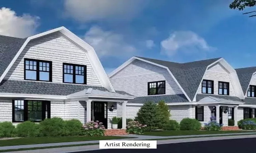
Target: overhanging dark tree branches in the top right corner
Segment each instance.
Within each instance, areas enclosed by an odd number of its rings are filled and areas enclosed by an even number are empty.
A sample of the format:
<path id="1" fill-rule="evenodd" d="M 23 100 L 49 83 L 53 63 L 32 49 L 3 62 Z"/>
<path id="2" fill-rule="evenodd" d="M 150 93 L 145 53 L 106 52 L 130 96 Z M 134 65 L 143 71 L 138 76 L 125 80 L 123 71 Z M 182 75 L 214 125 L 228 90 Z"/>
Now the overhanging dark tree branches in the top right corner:
<path id="1" fill-rule="evenodd" d="M 255 5 L 256 5 L 256 0 L 234 0 L 231 4 L 229 4 L 229 8 L 243 11 L 245 7 L 253 7 Z M 243 14 L 251 14 L 254 12 L 256 13 L 256 11 L 251 11 Z M 256 14 L 250 15 L 249 17 L 253 17 L 253 16 L 256 16 Z"/>

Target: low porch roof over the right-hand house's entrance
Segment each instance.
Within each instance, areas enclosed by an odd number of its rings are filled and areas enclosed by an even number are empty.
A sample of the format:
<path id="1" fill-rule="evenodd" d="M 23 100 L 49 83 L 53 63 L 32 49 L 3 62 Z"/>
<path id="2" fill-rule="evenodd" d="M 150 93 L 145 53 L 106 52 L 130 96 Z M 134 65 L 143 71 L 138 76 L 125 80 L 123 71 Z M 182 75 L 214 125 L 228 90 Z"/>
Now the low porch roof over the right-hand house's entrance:
<path id="1" fill-rule="evenodd" d="M 198 104 L 244 104 L 241 101 L 234 101 L 230 99 L 216 98 L 212 96 L 204 97 L 198 101 Z"/>

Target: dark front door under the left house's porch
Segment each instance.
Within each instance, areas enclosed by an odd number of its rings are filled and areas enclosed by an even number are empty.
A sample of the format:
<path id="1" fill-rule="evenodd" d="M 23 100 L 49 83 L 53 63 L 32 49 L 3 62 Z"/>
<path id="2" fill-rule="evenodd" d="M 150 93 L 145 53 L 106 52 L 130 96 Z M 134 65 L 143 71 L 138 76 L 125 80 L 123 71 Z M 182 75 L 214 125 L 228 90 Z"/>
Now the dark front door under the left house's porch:
<path id="1" fill-rule="evenodd" d="M 92 102 L 91 120 L 102 122 L 108 128 L 108 105 L 106 102 Z"/>

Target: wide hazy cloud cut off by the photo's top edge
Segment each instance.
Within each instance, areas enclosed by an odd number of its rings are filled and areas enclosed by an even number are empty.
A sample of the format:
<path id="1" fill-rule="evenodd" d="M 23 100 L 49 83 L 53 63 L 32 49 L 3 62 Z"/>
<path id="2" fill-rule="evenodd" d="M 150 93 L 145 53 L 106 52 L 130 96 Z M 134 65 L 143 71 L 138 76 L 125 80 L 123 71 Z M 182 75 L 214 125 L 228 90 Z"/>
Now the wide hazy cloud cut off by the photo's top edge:
<path id="1" fill-rule="evenodd" d="M 146 4 L 144 0 L 65 0 L 64 14 L 80 22 L 124 21 L 135 17 Z"/>

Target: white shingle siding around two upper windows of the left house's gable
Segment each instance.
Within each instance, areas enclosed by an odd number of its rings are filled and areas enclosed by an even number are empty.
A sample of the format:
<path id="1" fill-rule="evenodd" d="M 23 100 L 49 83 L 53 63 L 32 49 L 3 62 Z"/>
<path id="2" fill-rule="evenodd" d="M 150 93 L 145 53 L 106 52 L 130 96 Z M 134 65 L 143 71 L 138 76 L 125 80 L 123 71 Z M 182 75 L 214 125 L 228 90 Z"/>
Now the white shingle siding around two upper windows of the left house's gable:
<path id="1" fill-rule="evenodd" d="M 63 63 L 86 65 L 87 84 L 101 85 L 85 52 L 76 47 L 61 33 L 53 33 L 28 43 L 6 74 L 5 79 L 24 80 L 24 58 L 52 61 L 53 82 L 57 83 L 62 83 Z"/>

